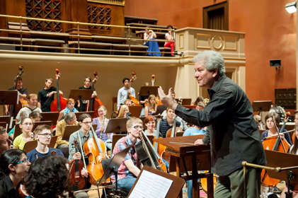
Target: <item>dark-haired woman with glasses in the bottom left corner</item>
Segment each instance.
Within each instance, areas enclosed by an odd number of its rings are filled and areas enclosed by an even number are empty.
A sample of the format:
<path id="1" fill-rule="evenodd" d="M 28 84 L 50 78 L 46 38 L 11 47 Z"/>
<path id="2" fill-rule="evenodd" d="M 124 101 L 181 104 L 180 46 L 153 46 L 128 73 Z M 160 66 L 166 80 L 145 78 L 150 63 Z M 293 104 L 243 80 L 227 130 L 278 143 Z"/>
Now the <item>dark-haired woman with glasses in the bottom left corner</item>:
<path id="1" fill-rule="evenodd" d="M 18 198 L 21 181 L 30 168 L 24 151 L 8 149 L 0 156 L 0 197 Z"/>

